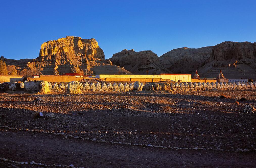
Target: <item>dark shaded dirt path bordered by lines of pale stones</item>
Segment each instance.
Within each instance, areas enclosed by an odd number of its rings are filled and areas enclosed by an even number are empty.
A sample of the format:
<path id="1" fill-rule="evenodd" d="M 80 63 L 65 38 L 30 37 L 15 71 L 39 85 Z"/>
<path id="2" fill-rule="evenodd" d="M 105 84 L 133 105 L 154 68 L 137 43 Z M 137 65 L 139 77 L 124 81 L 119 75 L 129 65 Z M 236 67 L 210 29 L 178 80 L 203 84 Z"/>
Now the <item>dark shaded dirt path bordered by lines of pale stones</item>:
<path id="1" fill-rule="evenodd" d="M 150 149 L 12 130 L 0 131 L 0 157 L 76 167 L 253 167 L 256 163 L 253 152 Z"/>

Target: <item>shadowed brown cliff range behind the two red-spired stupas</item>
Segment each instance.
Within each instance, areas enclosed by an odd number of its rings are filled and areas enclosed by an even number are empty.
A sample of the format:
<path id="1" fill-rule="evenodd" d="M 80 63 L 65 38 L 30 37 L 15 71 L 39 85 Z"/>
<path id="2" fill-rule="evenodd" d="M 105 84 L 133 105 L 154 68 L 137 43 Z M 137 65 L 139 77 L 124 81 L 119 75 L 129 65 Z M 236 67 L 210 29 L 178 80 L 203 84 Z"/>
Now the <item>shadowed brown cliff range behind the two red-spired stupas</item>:
<path id="1" fill-rule="evenodd" d="M 217 77 L 219 69 L 226 78 L 256 78 L 256 43 L 226 41 L 216 46 L 173 49 L 159 57 L 173 73 Z"/>

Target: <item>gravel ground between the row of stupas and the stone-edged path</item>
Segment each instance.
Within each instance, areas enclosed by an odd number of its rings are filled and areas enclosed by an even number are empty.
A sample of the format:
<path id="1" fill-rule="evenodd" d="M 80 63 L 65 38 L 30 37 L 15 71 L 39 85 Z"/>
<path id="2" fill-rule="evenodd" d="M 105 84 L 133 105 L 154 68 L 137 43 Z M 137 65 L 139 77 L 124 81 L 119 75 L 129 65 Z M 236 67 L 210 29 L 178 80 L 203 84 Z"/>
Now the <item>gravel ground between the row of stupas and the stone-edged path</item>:
<path id="1" fill-rule="evenodd" d="M 220 98 L 221 94 L 231 99 Z M 242 97 L 247 101 L 240 101 Z M 38 98 L 43 101 L 34 101 Z M 243 113 L 243 108 L 256 107 L 255 99 L 255 90 L 9 92 L 0 93 L 0 125 L 107 142 L 250 150 L 256 149 L 256 113 Z M 52 112 L 57 118 L 34 118 L 37 112 Z"/>

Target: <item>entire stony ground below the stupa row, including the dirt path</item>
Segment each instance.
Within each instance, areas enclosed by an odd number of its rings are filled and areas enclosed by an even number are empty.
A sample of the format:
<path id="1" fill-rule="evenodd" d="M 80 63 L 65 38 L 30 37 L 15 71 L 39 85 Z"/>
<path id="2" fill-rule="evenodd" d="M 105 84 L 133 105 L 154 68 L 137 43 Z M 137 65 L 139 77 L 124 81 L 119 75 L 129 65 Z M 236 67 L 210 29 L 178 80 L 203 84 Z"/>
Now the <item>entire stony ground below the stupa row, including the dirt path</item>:
<path id="1" fill-rule="evenodd" d="M 232 151 L 256 149 L 256 114 L 242 112 L 247 104 L 256 107 L 255 90 L 0 93 L 0 125 L 46 132 L 0 128 L 0 157 L 75 167 L 254 167 L 256 152 Z M 61 132 L 80 138 L 50 134 Z M 8 166 L 38 167 L 0 161 Z"/>

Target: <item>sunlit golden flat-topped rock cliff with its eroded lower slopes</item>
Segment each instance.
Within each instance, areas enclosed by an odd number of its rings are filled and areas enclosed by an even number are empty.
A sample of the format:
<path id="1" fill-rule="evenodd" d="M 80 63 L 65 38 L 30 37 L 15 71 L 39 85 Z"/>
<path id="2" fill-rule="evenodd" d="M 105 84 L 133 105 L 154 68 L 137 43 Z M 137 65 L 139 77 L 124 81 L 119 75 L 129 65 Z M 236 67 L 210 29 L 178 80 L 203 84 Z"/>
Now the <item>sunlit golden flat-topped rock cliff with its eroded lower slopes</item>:
<path id="1" fill-rule="evenodd" d="M 3 59 L 3 58 L 0 58 Z M 97 74 L 131 74 L 119 66 L 105 60 L 103 50 L 95 39 L 82 39 L 68 36 L 58 40 L 47 41 L 41 45 L 36 59 L 10 60 L 4 58 L 11 68 L 19 69 L 18 75 L 62 75 L 80 73 Z M 11 69 L 9 68 L 9 69 Z"/>

